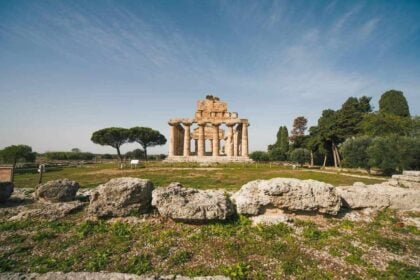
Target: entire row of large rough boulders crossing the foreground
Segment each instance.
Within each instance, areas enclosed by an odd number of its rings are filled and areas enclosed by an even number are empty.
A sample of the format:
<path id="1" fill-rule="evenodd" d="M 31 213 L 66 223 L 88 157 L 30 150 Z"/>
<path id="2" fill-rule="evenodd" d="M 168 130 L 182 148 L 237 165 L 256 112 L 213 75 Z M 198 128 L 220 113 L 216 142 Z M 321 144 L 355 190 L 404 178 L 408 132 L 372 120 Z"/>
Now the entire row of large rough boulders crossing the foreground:
<path id="1" fill-rule="evenodd" d="M 10 185 L 10 184 L 9 184 Z M 249 182 L 233 194 L 223 190 L 197 190 L 179 183 L 154 188 L 150 180 L 115 178 L 94 189 L 79 189 L 77 182 L 63 179 L 30 190 L 0 188 L 1 212 L 10 220 L 59 219 L 87 205 L 86 217 L 126 217 L 156 212 L 164 218 L 187 223 L 224 221 L 237 214 L 315 213 L 337 216 L 364 209 L 420 210 L 420 172 L 405 171 L 387 182 L 355 183 L 334 187 L 315 180 L 274 178 Z M 10 197 L 10 198 L 9 198 Z M 9 198 L 9 199 L 8 199 Z M 345 215 L 342 215 L 345 216 Z M 353 215 L 354 217 L 354 215 Z M 280 219 L 284 220 L 284 219 Z"/>

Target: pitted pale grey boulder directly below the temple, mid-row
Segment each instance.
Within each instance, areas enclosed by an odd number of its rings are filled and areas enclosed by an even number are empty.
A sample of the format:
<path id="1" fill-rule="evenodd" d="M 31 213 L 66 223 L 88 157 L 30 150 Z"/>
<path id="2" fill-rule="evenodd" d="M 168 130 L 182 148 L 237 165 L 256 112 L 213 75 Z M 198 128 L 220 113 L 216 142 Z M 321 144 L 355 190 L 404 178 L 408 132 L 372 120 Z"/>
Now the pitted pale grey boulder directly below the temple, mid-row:
<path id="1" fill-rule="evenodd" d="M 155 189 L 152 205 L 163 217 L 191 223 L 226 220 L 235 214 L 224 191 L 184 188 L 180 183 Z"/>

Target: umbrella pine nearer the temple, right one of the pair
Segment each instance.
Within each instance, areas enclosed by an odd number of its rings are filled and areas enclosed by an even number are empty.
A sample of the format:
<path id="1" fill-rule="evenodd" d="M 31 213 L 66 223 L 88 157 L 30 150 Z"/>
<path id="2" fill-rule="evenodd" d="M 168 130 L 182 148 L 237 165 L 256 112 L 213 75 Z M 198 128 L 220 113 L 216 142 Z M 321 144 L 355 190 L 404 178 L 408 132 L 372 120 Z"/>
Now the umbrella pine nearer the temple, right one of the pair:
<path id="1" fill-rule="evenodd" d="M 164 145 L 166 138 L 157 130 L 137 126 L 130 128 L 130 142 L 137 142 L 142 146 L 145 159 L 147 160 L 147 148 Z"/>

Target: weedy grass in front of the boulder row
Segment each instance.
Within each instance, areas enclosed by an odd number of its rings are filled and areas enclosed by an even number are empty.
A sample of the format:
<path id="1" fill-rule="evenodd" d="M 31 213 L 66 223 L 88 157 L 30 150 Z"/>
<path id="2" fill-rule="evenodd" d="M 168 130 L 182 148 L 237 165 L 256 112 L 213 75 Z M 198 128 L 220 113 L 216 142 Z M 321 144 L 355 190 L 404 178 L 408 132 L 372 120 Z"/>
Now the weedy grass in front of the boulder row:
<path id="1" fill-rule="evenodd" d="M 251 226 L 245 217 L 188 225 L 158 218 L 2 221 L 0 271 L 119 271 L 232 279 L 419 279 L 420 232 L 394 212 L 374 222 L 297 219 Z"/>

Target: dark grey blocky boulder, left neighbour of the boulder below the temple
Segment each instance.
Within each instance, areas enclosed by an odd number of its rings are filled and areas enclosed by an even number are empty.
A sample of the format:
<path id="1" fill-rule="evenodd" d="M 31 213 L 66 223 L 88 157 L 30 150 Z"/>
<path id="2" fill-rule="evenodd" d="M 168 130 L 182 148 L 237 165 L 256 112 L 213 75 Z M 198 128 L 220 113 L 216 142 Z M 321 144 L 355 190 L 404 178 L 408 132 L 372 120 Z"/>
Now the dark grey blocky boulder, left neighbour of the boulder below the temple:
<path id="1" fill-rule="evenodd" d="M 88 213 L 96 217 L 124 217 L 150 210 L 153 184 L 131 177 L 111 179 L 90 194 Z"/>

